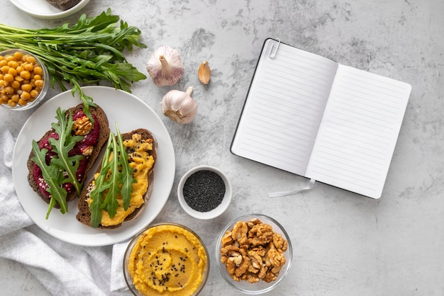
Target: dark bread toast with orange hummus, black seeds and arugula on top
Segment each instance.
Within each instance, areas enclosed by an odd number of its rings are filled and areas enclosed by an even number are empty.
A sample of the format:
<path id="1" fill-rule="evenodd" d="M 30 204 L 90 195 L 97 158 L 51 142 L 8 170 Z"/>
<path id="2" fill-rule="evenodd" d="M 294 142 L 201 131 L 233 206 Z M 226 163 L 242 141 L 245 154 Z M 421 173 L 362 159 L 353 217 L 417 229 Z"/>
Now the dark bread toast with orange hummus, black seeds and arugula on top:
<path id="1" fill-rule="evenodd" d="M 123 147 L 118 147 L 119 142 Z M 93 228 L 111 229 L 132 220 L 150 198 L 156 144 L 144 129 L 122 135 L 118 132 L 116 137 L 111 133 L 101 167 L 79 198 L 77 220 Z M 126 176 L 121 156 L 126 157 L 131 176 Z"/>

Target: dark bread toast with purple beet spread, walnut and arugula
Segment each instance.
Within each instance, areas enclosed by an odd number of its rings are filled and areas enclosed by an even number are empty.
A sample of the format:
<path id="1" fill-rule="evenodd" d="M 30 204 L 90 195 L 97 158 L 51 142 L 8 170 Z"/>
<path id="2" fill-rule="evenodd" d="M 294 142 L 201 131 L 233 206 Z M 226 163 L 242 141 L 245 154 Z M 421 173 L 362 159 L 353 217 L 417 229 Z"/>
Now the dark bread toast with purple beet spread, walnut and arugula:
<path id="1" fill-rule="evenodd" d="M 45 203 L 67 212 L 67 202 L 80 195 L 101 147 L 109 135 L 108 120 L 99 106 L 91 108 L 94 124 L 83 112 L 83 104 L 69 110 L 57 109 L 57 123 L 33 140 L 28 157 L 28 182 Z"/>

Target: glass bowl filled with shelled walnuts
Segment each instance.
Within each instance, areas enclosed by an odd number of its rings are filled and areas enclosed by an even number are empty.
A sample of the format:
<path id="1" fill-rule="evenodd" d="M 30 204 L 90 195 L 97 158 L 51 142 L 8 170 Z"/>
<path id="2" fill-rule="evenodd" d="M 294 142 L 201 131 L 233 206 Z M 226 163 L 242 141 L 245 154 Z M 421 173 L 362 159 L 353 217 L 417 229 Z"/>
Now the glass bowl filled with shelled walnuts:
<path id="1" fill-rule="evenodd" d="M 262 214 L 238 217 L 227 224 L 216 243 L 222 277 L 236 290 L 270 292 L 292 266 L 292 243 L 279 222 Z"/>

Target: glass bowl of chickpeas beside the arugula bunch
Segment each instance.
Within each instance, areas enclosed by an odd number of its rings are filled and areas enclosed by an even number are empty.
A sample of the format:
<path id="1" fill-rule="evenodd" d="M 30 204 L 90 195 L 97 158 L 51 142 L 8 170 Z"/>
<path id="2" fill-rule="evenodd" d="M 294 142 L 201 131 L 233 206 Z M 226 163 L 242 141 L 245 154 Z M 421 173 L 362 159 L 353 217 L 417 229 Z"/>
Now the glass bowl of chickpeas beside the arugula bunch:
<path id="1" fill-rule="evenodd" d="M 0 52 L 0 107 L 27 110 L 48 92 L 50 79 L 45 64 L 26 50 Z"/>

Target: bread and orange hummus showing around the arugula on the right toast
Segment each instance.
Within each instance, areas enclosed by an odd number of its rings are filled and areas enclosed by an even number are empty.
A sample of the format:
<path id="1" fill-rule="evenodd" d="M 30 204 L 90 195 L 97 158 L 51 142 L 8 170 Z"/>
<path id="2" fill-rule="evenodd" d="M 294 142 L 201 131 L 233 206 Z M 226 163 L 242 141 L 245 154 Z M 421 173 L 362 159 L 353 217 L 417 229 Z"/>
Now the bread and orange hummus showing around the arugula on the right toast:
<path id="1" fill-rule="evenodd" d="M 152 132 L 145 129 L 137 129 L 123 133 L 122 140 L 128 154 L 128 163 L 133 169 L 132 175 L 135 182 L 132 183 L 130 205 L 127 210 L 123 208 L 123 198 L 117 195 L 118 209 L 116 215 L 110 217 L 106 210 L 101 210 L 101 222 L 98 228 L 116 229 L 121 227 L 123 222 L 128 222 L 138 217 L 140 212 L 146 207 L 152 193 L 154 181 L 154 167 L 157 161 L 157 142 Z M 82 224 L 91 227 L 91 190 L 95 189 L 95 178 L 101 171 L 101 166 L 96 171 L 94 179 L 82 190 L 77 207 L 79 212 L 76 218 Z M 106 198 L 106 194 L 102 198 Z"/>

